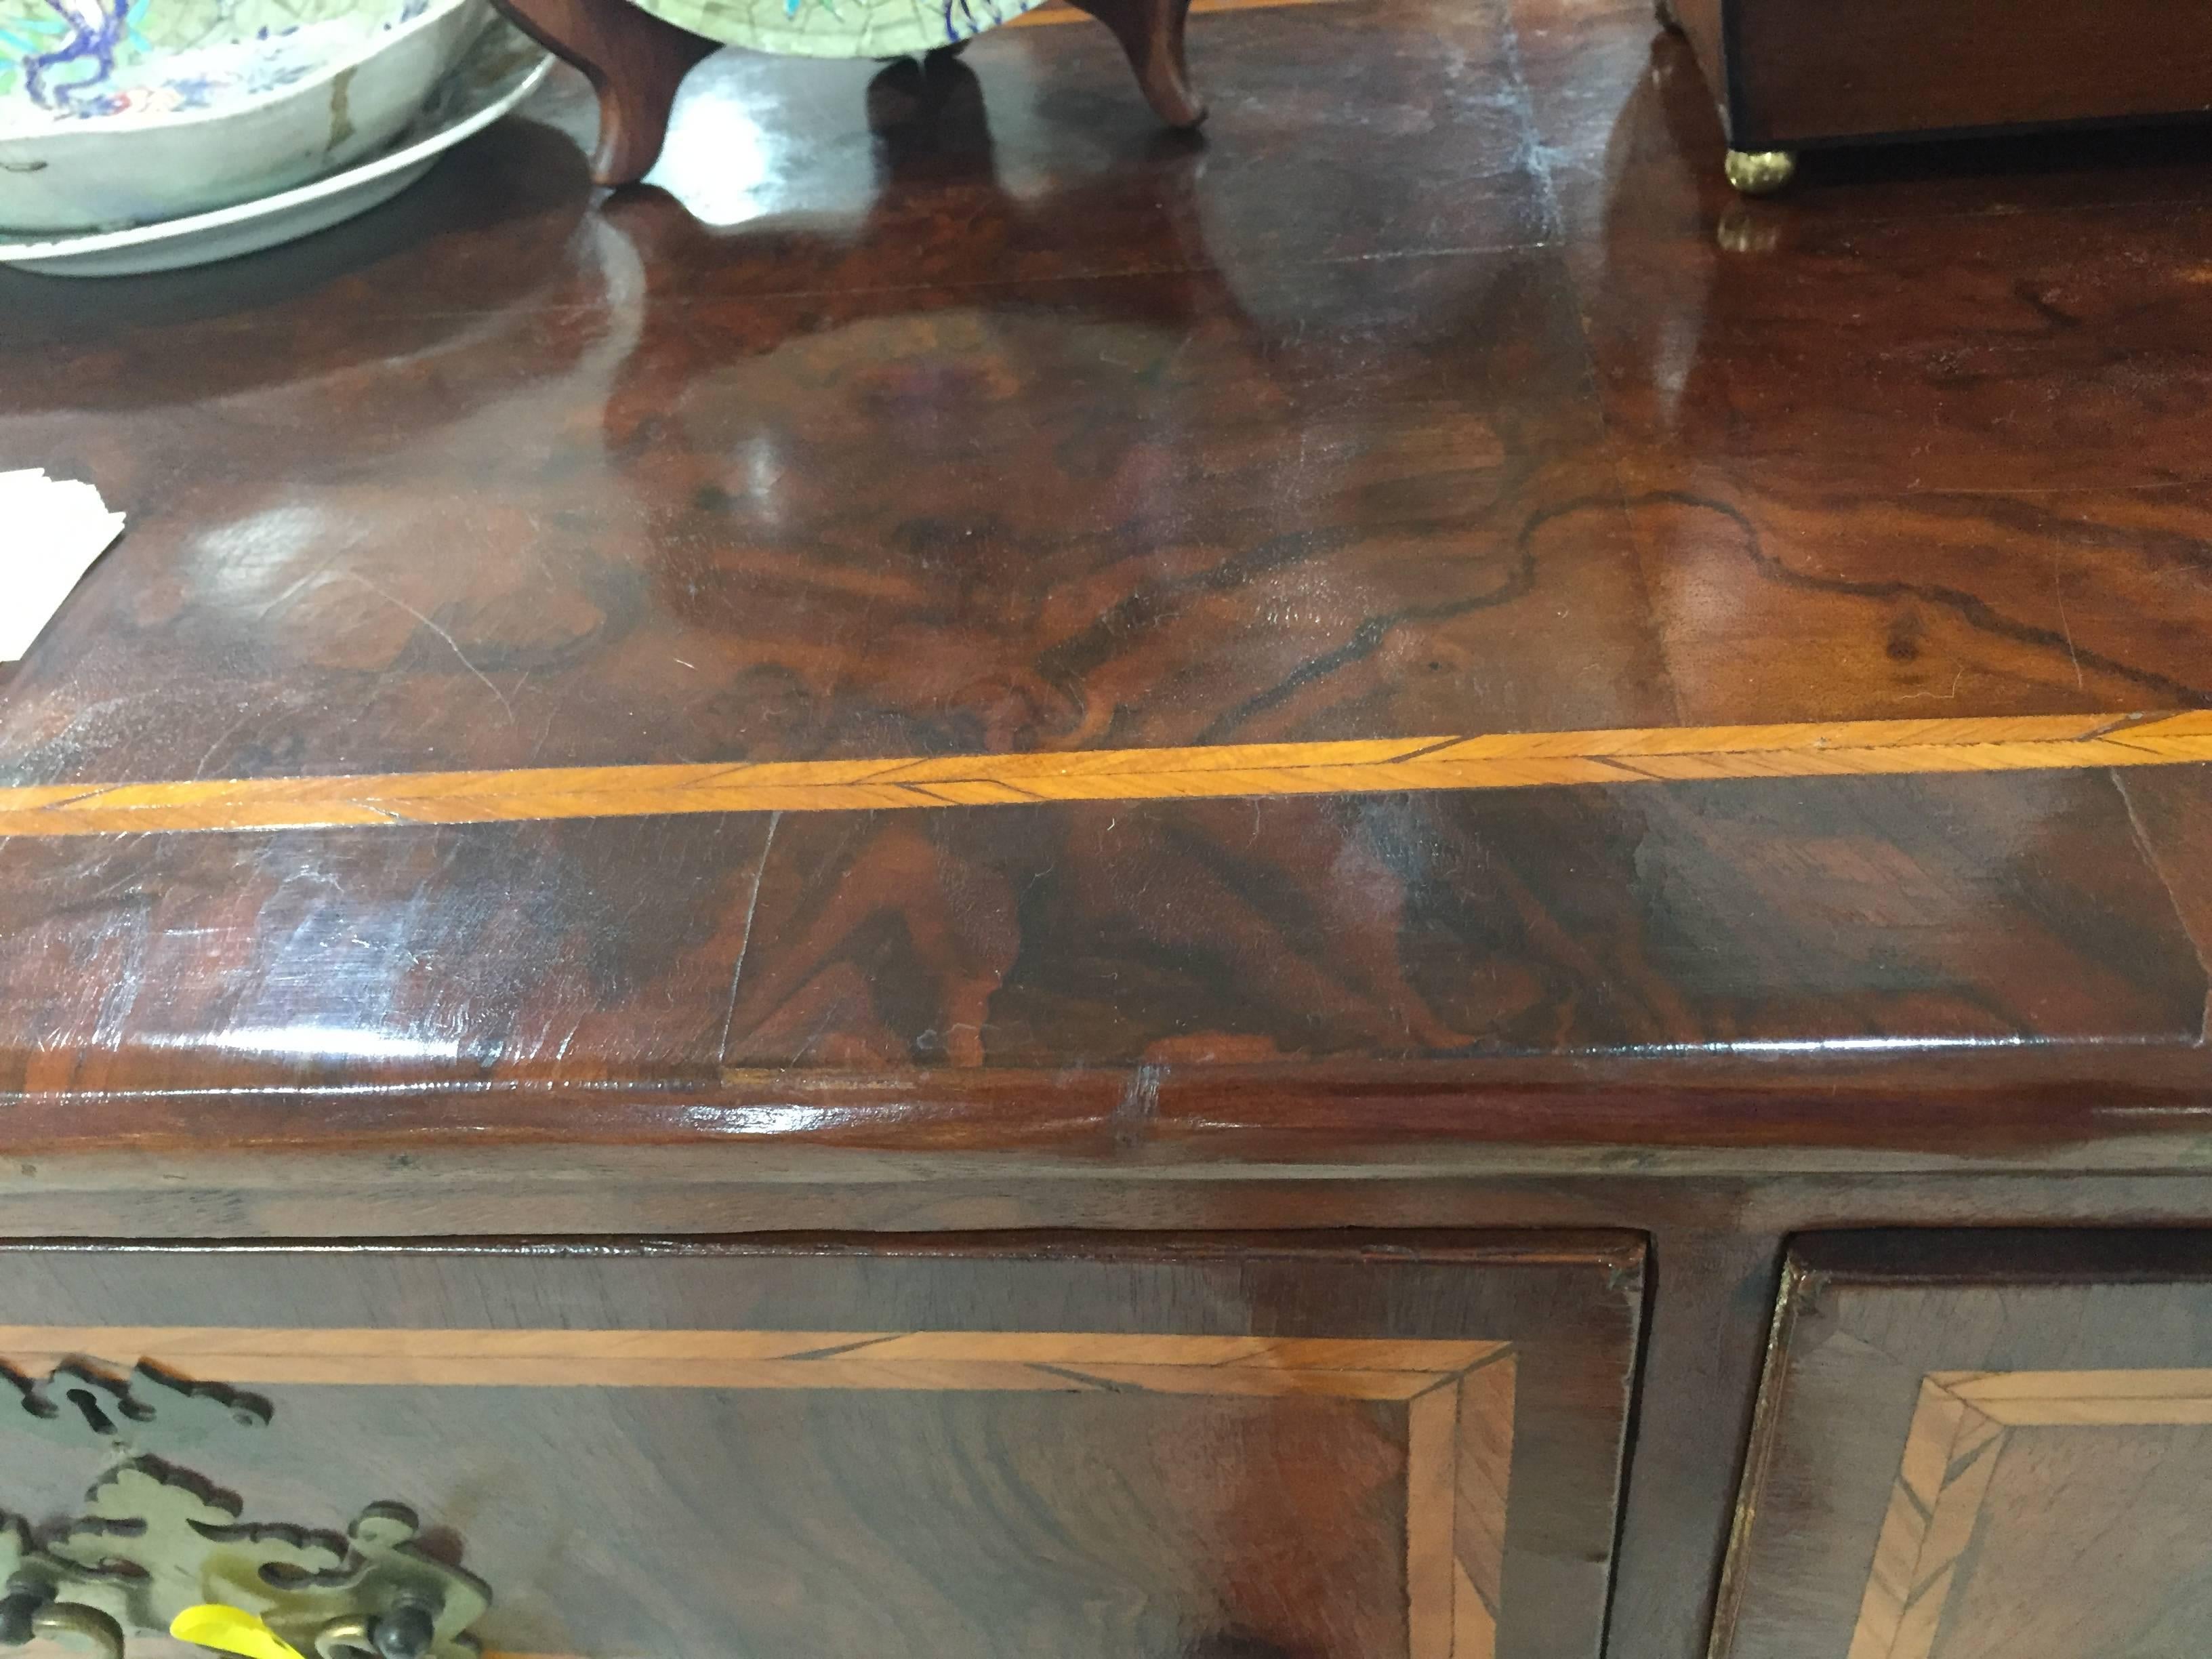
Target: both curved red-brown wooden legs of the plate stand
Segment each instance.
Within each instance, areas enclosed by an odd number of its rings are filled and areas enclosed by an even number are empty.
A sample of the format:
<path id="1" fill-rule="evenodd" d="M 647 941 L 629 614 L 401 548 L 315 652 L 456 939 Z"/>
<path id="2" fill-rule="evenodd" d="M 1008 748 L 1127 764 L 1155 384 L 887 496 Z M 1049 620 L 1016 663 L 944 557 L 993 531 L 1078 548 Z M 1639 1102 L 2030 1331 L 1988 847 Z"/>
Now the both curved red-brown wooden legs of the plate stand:
<path id="1" fill-rule="evenodd" d="M 1113 29 L 1146 100 L 1168 126 L 1197 126 L 1206 106 L 1190 91 L 1183 20 L 1190 0 L 1071 0 Z M 546 51 L 582 69 L 599 93 L 599 146 L 591 177 L 637 184 L 659 159 L 668 111 L 692 64 L 721 46 L 655 18 L 630 0 L 498 0 Z"/>

